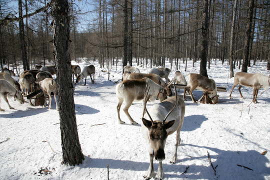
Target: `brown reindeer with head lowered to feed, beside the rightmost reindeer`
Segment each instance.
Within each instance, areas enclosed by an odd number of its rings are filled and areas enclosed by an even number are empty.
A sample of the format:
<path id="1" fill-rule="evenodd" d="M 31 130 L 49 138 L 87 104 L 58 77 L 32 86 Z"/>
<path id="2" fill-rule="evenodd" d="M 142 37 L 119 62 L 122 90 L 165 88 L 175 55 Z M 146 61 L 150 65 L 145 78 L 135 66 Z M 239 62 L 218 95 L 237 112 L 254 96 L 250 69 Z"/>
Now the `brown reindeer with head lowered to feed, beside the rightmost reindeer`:
<path id="1" fill-rule="evenodd" d="M 194 100 L 194 97 L 192 95 L 192 91 L 194 89 L 198 89 L 203 91 L 202 96 L 198 100 L 198 102 L 201 101 L 201 99 L 204 97 L 205 102 L 208 102 L 207 96 L 211 99 L 211 102 L 215 104 L 218 100 L 218 95 L 217 95 L 217 89 L 216 89 L 216 84 L 213 79 L 207 78 L 203 75 L 197 74 L 197 73 L 190 73 L 187 75 L 187 85 L 184 88 L 184 93 L 183 93 L 183 99 L 185 99 L 185 92 L 189 91 L 190 96 L 192 98 L 192 101 L 195 103 L 196 101 Z"/>

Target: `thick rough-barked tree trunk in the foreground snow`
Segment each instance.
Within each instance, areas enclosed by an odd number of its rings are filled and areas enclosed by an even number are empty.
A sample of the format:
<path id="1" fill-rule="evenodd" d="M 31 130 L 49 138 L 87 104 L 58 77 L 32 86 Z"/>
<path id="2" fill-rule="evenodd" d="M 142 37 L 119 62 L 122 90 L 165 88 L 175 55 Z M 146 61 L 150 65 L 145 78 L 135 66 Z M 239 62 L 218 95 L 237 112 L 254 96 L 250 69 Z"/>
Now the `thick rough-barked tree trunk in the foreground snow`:
<path id="1" fill-rule="evenodd" d="M 61 145 L 64 164 L 75 165 L 84 156 L 79 144 L 71 79 L 67 0 L 52 0 L 54 58 L 57 70 Z"/>

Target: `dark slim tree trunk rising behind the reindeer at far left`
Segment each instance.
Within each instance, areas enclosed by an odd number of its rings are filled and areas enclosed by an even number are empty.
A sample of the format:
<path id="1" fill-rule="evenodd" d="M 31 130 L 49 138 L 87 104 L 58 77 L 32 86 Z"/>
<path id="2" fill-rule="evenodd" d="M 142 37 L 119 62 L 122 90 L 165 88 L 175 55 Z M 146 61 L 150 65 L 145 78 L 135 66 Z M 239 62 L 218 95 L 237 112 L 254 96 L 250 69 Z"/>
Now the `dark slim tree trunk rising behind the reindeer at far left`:
<path id="1" fill-rule="evenodd" d="M 21 59 L 23 64 L 23 70 L 29 70 L 29 63 L 27 60 L 26 54 L 26 44 L 24 39 L 24 24 L 22 18 L 22 2 L 18 0 L 18 7 L 19 7 L 19 42 L 20 42 L 20 52 L 21 52 Z"/>

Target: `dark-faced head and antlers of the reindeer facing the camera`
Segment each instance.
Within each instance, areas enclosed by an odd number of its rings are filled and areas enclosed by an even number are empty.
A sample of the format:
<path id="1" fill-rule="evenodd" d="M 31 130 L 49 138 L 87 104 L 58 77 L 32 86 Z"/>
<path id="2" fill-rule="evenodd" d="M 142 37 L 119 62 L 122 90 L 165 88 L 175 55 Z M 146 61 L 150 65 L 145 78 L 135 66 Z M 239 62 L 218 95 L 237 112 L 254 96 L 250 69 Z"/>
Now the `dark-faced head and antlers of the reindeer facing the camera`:
<path id="1" fill-rule="evenodd" d="M 175 87 L 175 85 L 174 85 L 174 87 Z M 146 91 L 146 89 L 147 89 L 147 85 L 146 85 L 145 91 Z M 175 120 L 170 120 L 170 121 L 166 122 L 166 118 L 168 117 L 170 112 L 172 112 L 174 110 L 174 108 L 176 107 L 176 105 L 178 103 L 177 92 L 175 89 L 175 98 L 176 98 L 175 105 L 167 113 L 167 115 L 165 116 L 163 121 L 160 121 L 160 120 L 153 121 L 147 108 L 146 108 L 146 100 L 145 100 L 146 98 L 145 97 L 147 97 L 148 91 L 149 91 L 149 88 L 147 90 L 146 95 L 144 94 L 143 107 L 144 107 L 148 117 L 150 118 L 150 120 L 147 120 L 143 117 L 141 119 L 142 119 L 142 123 L 145 125 L 145 127 L 148 128 L 148 134 L 149 134 L 150 144 L 151 144 L 151 148 L 152 148 L 152 155 L 154 156 L 154 158 L 156 160 L 162 161 L 165 159 L 164 147 L 165 147 L 166 139 L 168 136 L 166 129 L 170 128 L 175 121 Z"/>

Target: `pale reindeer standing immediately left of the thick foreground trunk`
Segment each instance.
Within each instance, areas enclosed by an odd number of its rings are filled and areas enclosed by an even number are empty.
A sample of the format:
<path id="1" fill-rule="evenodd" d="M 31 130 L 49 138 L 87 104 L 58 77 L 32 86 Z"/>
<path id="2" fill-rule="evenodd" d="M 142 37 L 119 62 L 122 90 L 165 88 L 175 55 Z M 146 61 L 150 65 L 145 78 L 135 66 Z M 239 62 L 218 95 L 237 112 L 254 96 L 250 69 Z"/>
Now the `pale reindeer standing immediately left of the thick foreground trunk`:
<path id="1" fill-rule="evenodd" d="M 51 96 L 50 96 L 50 94 L 51 94 L 51 92 L 53 92 L 54 100 L 55 100 L 55 104 L 56 104 L 56 110 L 58 110 L 58 102 L 57 102 L 57 98 L 56 98 L 57 87 L 56 87 L 55 80 L 53 78 L 45 78 L 45 79 L 38 82 L 38 86 L 44 92 L 44 96 L 45 96 L 44 107 L 46 107 L 46 95 L 48 95 L 48 99 L 49 99 L 48 108 L 51 109 Z"/>

